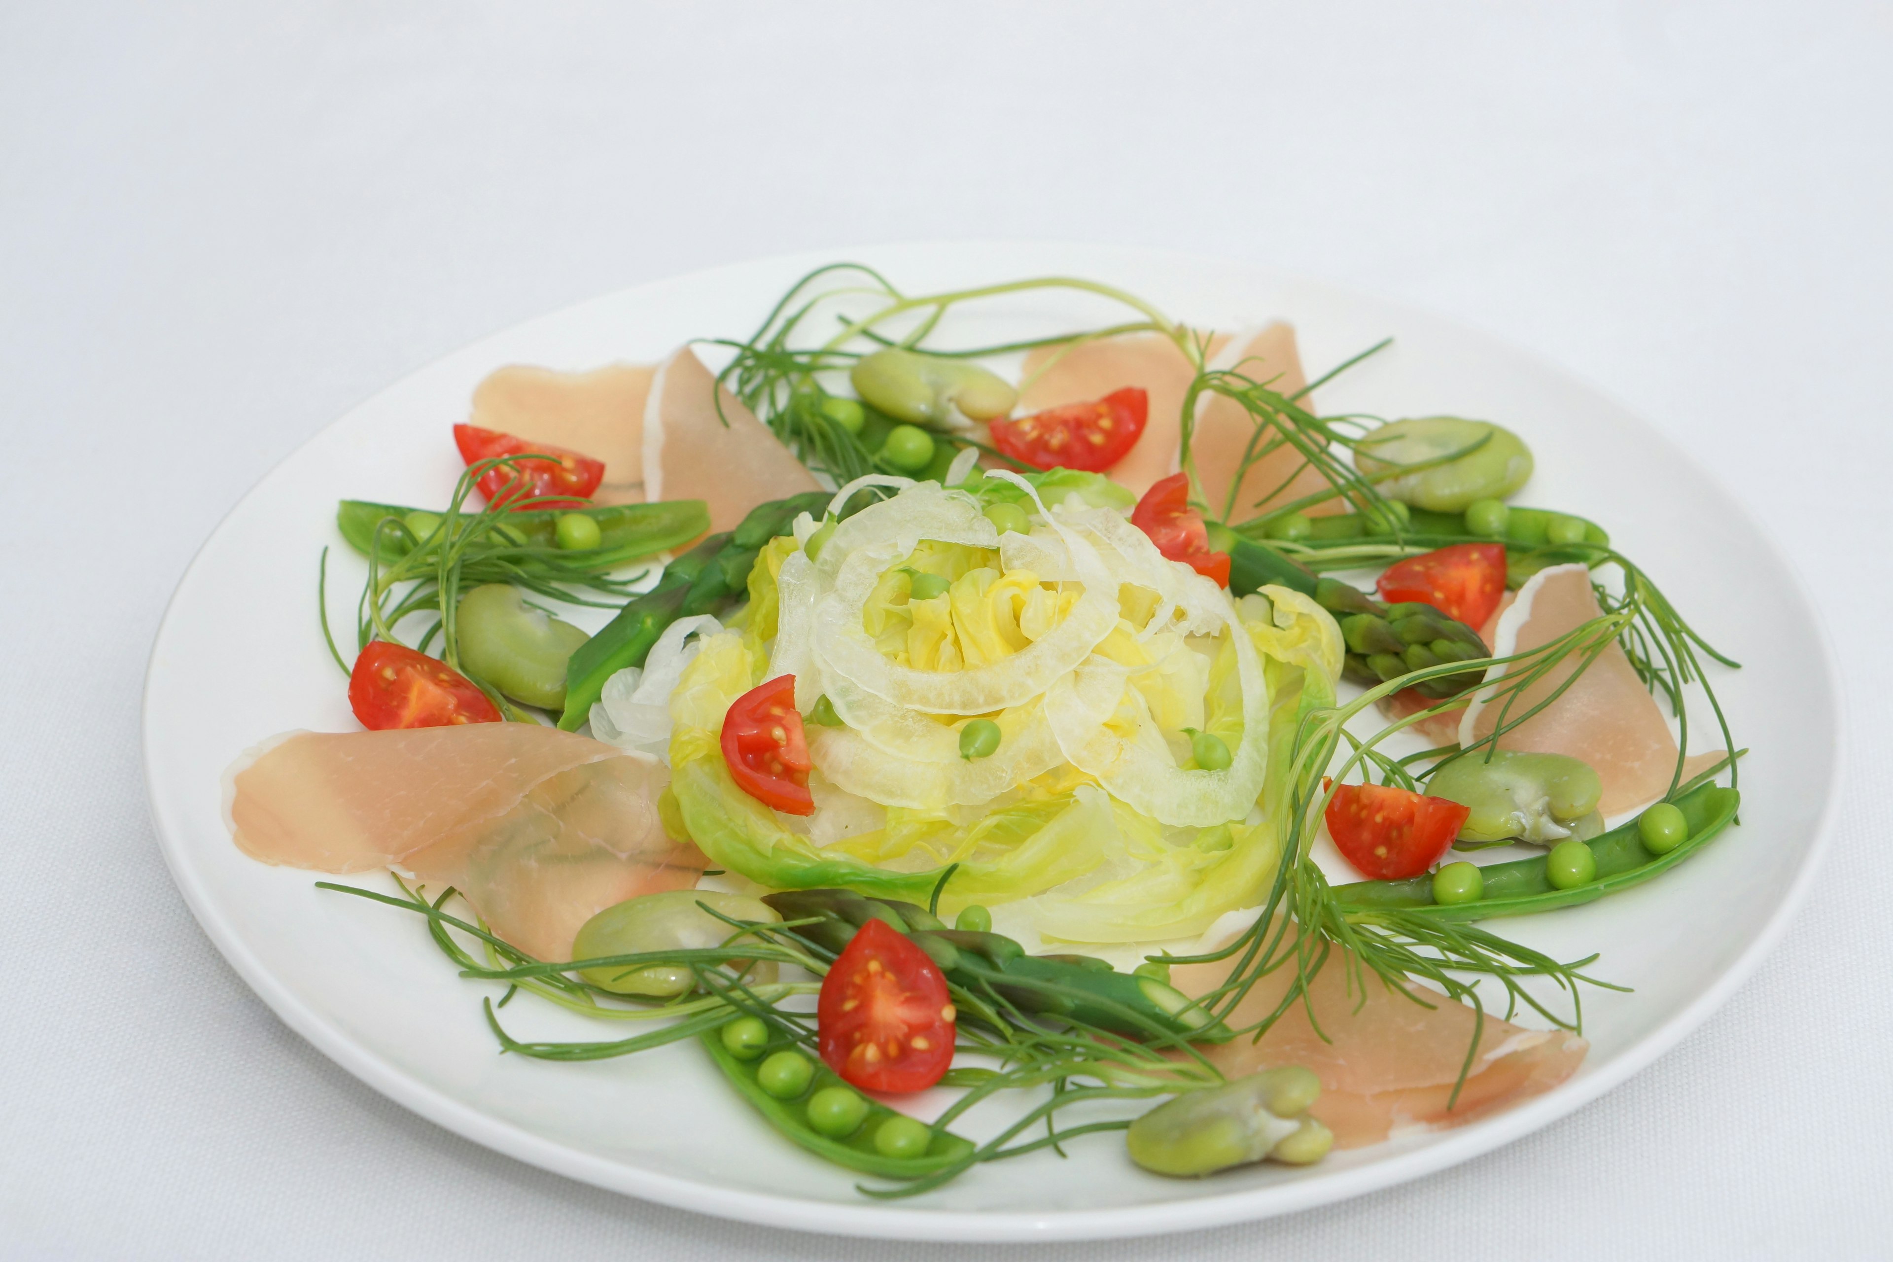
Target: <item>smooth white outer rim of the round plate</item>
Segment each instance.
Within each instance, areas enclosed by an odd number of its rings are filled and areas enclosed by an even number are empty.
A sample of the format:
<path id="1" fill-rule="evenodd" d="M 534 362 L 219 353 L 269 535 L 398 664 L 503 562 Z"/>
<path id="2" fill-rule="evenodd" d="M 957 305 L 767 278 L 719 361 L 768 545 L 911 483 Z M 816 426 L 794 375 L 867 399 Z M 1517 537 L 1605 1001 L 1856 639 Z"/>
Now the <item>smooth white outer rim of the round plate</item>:
<path id="1" fill-rule="evenodd" d="M 1620 409 L 1628 418 L 1632 418 L 1643 431 L 1647 439 L 1666 445 L 1673 454 L 1683 458 L 1689 467 L 1704 481 L 1713 496 L 1717 496 L 1725 509 L 1738 515 L 1768 547 L 1772 560 L 1791 577 L 1795 596 L 1800 607 L 1808 615 L 1808 622 L 1813 628 L 1815 641 L 1819 645 L 1819 683 L 1825 685 L 1827 696 L 1832 700 L 1834 713 L 1834 761 L 1829 768 L 1827 783 L 1821 787 L 1821 808 L 1813 821 L 1812 838 L 1808 851 L 1776 910 L 1768 916 L 1760 933 L 1757 933 L 1747 946 L 1723 969 L 1721 976 L 1713 980 L 1692 1003 L 1681 1007 L 1677 1012 L 1668 1016 L 1651 1033 L 1637 1039 L 1624 1052 L 1615 1056 L 1603 1067 L 1594 1073 L 1584 1073 L 1573 1077 L 1560 1084 L 1558 1088 L 1537 1095 L 1522 1105 L 1507 1109 L 1490 1118 L 1482 1118 L 1475 1124 L 1458 1128 L 1439 1135 L 1433 1143 L 1414 1148 L 1410 1152 L 1401 1152 L 1380 1162 L 1363 1164 L 1353 1169 L 1335 1171 L 1333 1175 L 1323 1175 L 1318 1179 L 1283 1183 L 1265 1188 L 1242 1188 L 1227 1194 L 1185 1198 L 1176 1201 L 1157 1201 L 1140 1203 L 1128 1207 L 1106 1207 L 1106 1209 L 1047 1209 L 1047 1211 L 1017 1211 L 1017 1209 L 926 1209 L 926 1207 L 893 1207 L 882 1203 L 837 1203 L 827 1200 L 805 1200 L 797 1196 L 778 1196 L 769 1192 L 752 1192 L 736 1188 L 712 1188 L 710 1184 L 699 1183 L 695 1179 L 683 1179 L 653 1169 L 640 1169 L 611 1162 L 604 1156 L 593 1156 L 570 1148 L 558 1141 L 536 1135 L 522 1126 L 513 1122 L 504 1122 L 494 1118 L 473 1105 L 462 1103 L 445 1092 L 430 1086 L 413 1073 L 398 1069 L 396 1065 L 380 1060 L 373 1052 L 356 1044 L 350 1035 L 337 1025 L 329 1024 L 326 1018 L 316 1014 L 309 1005 L 305 1005 L 293 991 L 288 990 L 259 959 L 256 959 L 248 946 L 240 940 L 237 929 L 223 918 L 216 901 L 208 895 L 201 876 L 191 868 L 186 855 L 186 848 L 172 840 L 180 825 L 168 821 L 161 806 L 161 795 L 153 781 L 151 772 L 151 749 L 157 740 L 153 730 L 153 711 L 151 711 L 151 677 L 157 670 L 159 647 L 165 643 L 167 632 L 172 626 L 178 602 L 186 588 L 191 585 L 199 568 L 204 564 L 204 552 L 210 543 L 223 532 L 229 520 L 240 513 L 254 496 L 257 496 L 265 482 L 274 477 L 278 469 L 297 460 L 305 448 L 318 443 L 329 429 L 343 424 L 356 411 L 365 407 L 371 399 L 401 386 L 403 382 L 435 371 L 443 361 L 454 359 L 487 341 L 504 337 L 524 325 L 540 324 L 558 316 L 572 314 L 583 307 L 596 303 L 608 303 L 623 299 L 640 289 L 649 289 L 657 286 L 672 284 L 702 284 L 712 282 L 719 272 L 740 272 L 755 267 L 767 265 L 797 265 L 806 263 L 810 269 L 822 263 L 858 257 L 873 252 L 890 250 L 1085 250 L 1098 254 L 1119 254 L 1124 257 L 1138 259 L 1177 259 L 1194 265 L 1223 265 L 1223 267 L 1242 267 L 1244 271 L 1259 272 L 1270 276 L 1283 284 L 1302 284 L 1327 289 L 1336 295 L 1371 301 L 1401 310 L 1410 310 L 1414 314 L 1425 316 L 1427 320 L 1444 324 L 1454 331 L 1465 333 L 1486 344 L 1503 350 L 1509 358 L 1531 365 L 1537 371 L 1548 373 L 1552 377 L 1564 378 L 1573 386 L 1609 401 L 1613 407 Z M 1460 1162 L 1482 1156 L 1486 1152 L 1497 1150 L 1524 1135 L 1541 1130 L 1560 1118 L 1566 1118 L 1590 1101 L 1598 1099 L 1609 1090 L 1615 1090 L 1634 1075 L 1647 1069 L 1660 1056 L 1670 1052 L 1687 1035 L 1694 1033 L 1715 1010 L 1719 1010 L 1736 990 L 1740 990 L 1760 967 L 1762 959 L 1776 948 L 1781 935 L 1787 931 L 1789 921 L 1800 910 L 1813 885 L 1832 842 L 1832 833 L 1838 815 L 1840 783 L 1846 774 L 1848 755 L 1849 755 L 1849 734 L 1848 734 L 1848 698 L 1838 687 L 1838 657 L 1832 643 L 1832 634 L 1827 621 L 1821 617 L 1821 605 L 1815 602 L 1812 588 L 1800 568 L 1793 562 L 1787 549 L 1774 535 L 1768 526 L 1759 520 L 1747 505 L 1723 482 L 1723 479 L 1709 467 L 1696 462 L 1679 443 L 1675 443 L 1668 433 L 1654 428 L 1637 409 L 1628 407 L 1609 390 L 1600 388 L 1590 378 L 1560 365 L 1545 356 L 1518 346 L 1501 333 L 1482 329 L 1467 320 L 1450 316 L 1405 299 L 1380 297 L 1367 293 L 1348 284 L 1338 284 L 1321 276 L 1297 272 L 1289 269 L 1272 267 L 1266 263 L 1255 263 L 1247 259 L 1229 259 L 1212 254 L 1168 250 L 1155 246 L 1124 244 L 1124 242 L 1083 242 L 1083 240 L 1056 240 L 1056 238 L 931 238 L 931 240 L 899 240 L 899 242 L 878 242 L 878 244 L 854 244 L 846 248 L 823 248 L 823 250 L 801 250 L 791 254 L 769 254 L 753 255 L 740 261 L 719 263 L 714 267 L 693 269 L 687 272 L 678 272 L 670 276 L 653 276 L 634 286 L 621 286 L 604 293 L 594 293 L 583 297 L 575 303 L 566 303 L 562 307 L 528 316 L 526 320 L 515 320 L 507 325 L 483 333 L 481 337 L 469 339 L 439 356 L 433 356 L 426 363 L 401 373 L 398 378 L 382 384 L 380 388 L 369 392 L 367 395 L 356 399 L 350 407 L 337 412 L 329 422 L 314 429 L 309 437 L 297 443 L 290 452 L 276 460 L 267 471 L 263 471 L 257 481 L 237 498 L 235 503 L 218 518 L 218 524 L 204 535 L 204 541 L 191 554 L 189 564 L 178 577 L 170 598 L 165 602 L 165 611 L 159 617 L 157 630 L 151 638 L 151 651 L 146 657 L 144 683 L 140 689 L 140 770 L 146 787 L 146 810 L 151 817 L 153 833 L 157 834 L 159 851 L 163 853 L 165 867 L 170 872 L 172 882 L 184 895 L 186 904 L 195 916 L 197 923 L 203 927 L 206 937 L 218 948 L 218 952 L 229 961 L 237 974 L 250 986 L 257 997 L 297 1035 L 314 1044 L 324 1056 L 346 1069 L 358 1080 L 365 1082 L 373 1090 L 380 1092 L 388 1099 L 403 1105 L 411 1113 L 441 1126 L 462 1139 L 479 1143 L 481 1147 L 513 1160 L 526 1162 L 540 1169 L 577 1179 L 581 1183 L 634 1196 L 640 1200 L 655 1201 L 664 1207 L 689 1209 L 693 1213 L 702 1213 L 725 1220 L 757 1222 L 765 1226 L 776 1226 L 797 1232 L 825 1234 L 825 1236 L 850 1236 L 850 1237 L 869 1237 L 869 1239 L 916 1239 L 916 1241 L 941 1241 L 958 1239 L 967 1243 L 1003 1243 L 1003 1241 L 1083 1241 L 1083 1239 L 1106 1239 L 1106 1237 L 1140 1237 L 1140 1236 L 1159 1236 L 1172 1232 L 1191 1232 L 1191 1230 L 1210 1230 L 1217 1226 L 1229 1226 L 1234 1222 L 1261 1220 L 1276 1217 L 1282 1213 L 1293 1213 L 1299 1209 L 1314 1209 L 1319 1205 L 1331 1205 L 1340 1200 L 1353 1196 L 1363 1196 L 1380 1188 L 1395 1186 L 1425 1175 L 1437 1173 L 1441 1169 L 1458 1166 Z"/>

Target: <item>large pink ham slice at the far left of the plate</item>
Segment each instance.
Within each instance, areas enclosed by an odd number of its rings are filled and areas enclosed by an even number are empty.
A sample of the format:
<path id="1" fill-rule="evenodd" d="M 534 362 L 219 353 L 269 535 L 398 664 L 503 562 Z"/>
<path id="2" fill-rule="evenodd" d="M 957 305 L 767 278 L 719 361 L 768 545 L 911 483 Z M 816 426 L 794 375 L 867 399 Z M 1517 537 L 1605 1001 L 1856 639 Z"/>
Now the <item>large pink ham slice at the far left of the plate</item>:
<path id="1" fill-rule="evenodd" d="M 513 946 L 570 959 L 593 914 L 702 874 L 659 823 L 666 780 L 655 759 L 526 723 L 293 732 L 231 770 L 229 825 L 263 863 L 452 885 Z"/>

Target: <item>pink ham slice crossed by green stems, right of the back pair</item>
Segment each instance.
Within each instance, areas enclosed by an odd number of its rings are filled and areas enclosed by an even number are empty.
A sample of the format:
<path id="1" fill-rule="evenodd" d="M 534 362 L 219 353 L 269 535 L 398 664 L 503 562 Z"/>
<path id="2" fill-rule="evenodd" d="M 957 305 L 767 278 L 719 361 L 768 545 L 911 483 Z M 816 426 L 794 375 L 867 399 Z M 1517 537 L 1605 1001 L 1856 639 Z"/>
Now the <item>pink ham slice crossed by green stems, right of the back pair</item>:
<path id="1" fill-rule="evenodd" d="M 1295 325 L 1282 322 L 1232 337 L 1229 346 L 1210 361 L 1210 367 L 1240 373 L 1289 397 L 1308 386 L 1300 352 L 1295 346 Z M 1314 411 L 1312 397 L 1300 395 L 1295 401 L 1302 409 Z M 1191 437 L 1191 458 L 1196 465 L 1196 477 L 1202 481 L 1204 500 L 1217 517 L 1229 503 L 1230 482 L 1253 437 L 1255 418 L 1246 407 L 1225 395 L 1204 397 Z M 1276 437 L 1274 429 L 1265 435 L 1265 441 L 1270 437 Z M 1304 467 L 1299 450 L 1278 447 L 1242 475 L 1229 520 L 1242 522 L 1261 517 L 1270 505 L 1283 505 L 1319 490 L 1329 490 L 1329 481 L 1316 469 Z M 1346 513 L 1348 501 L 1336 496 L 1302 511 L 1310 517 Z"/>

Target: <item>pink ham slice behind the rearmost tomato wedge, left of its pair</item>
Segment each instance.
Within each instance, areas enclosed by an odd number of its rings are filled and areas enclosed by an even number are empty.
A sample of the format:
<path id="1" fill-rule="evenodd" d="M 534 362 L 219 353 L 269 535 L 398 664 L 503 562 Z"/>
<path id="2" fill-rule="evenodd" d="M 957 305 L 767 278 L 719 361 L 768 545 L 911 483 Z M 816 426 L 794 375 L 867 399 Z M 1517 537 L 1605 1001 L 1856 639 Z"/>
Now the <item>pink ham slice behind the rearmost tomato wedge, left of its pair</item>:
<path id="1" fill-rule="evenodd" d="M 1215 356 L 1227 342 L 1227 337 L 1212 337 L 1210 354 Z M 1043 375 L 1034 377 L 1039 369 Z M 1130 452 L 1107 473 L 1141 496 L 1151 482 L 1177 471 L 1183 394 L 1196 378 L 1196 369 L 1162 333 L 1126 333 L 1075 346 L 1039 346 L 1026 356 L 1024 378 L 1030 384 L 1018 395 L 1020 416 L 1141 386 L 1149 394 L 1149 420 Z"/>

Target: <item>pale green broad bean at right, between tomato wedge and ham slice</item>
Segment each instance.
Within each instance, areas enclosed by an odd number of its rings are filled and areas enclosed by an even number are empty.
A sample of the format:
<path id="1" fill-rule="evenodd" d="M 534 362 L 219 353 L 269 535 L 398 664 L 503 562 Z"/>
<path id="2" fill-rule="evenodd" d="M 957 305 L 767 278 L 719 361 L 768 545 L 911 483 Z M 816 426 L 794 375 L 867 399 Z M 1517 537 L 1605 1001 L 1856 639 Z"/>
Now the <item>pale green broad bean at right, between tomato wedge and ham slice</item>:
<path id="1" fill-rule="evenodd" d="M 1588 762 L 1562 753 L 1492 749 L 1452 759 L 1427 778 L 1431 797 L 1471 806 L 1460 840 L 1554 842 L 1598 810 L 1603 781 Z"/>

